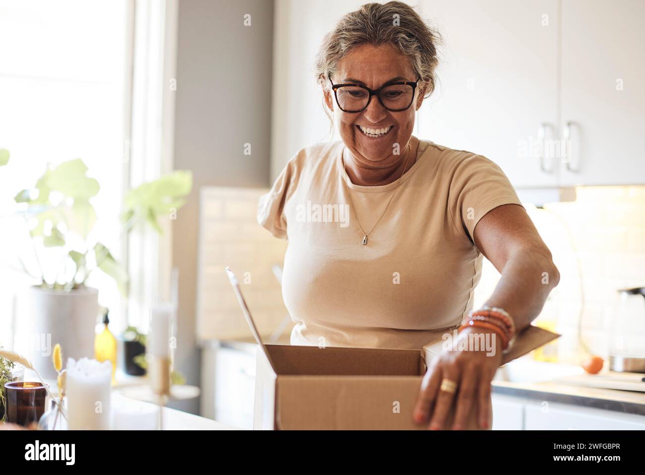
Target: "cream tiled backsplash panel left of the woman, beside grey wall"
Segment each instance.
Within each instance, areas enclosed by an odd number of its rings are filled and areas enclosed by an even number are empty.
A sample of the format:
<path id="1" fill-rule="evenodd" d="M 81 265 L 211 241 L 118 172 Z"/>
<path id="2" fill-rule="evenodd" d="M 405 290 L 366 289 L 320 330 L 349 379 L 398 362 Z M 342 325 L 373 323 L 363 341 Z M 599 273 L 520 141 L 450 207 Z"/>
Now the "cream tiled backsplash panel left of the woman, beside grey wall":
<path id="1" fill-rule="evenodd" d="M 268 335 L 288 315 L 273 265 L 282 265 L 286 241 L 257 224 L 257 203 L 268 188 L 203 187 L 200 190 L 197 265 L 197 337 L 252 337 L 224 274 L 239 280 L 255 324 Z"/>

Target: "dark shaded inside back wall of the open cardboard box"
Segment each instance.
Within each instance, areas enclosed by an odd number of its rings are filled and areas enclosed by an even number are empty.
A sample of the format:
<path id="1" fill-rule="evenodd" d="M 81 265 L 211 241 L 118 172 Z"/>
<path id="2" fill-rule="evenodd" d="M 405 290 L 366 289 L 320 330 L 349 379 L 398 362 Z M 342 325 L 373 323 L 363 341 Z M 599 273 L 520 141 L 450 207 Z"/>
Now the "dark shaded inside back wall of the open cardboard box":
<path id="1" fill-rule="evenodd" d="M 276 374 L 396 375 L 423 374 L 417 350 L 266 345 Z"/>

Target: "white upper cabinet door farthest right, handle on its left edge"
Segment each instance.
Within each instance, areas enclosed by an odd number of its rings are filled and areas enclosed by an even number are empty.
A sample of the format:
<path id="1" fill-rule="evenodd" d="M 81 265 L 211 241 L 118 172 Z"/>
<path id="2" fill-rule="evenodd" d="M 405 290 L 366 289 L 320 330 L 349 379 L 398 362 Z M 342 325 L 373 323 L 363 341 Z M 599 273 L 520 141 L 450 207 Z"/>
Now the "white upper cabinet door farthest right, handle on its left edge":
<path id="1" fill-rule="evenodd" d="M 642 0 L 562 1 L 562 185 L 645 183 L 644 19 Z"/>

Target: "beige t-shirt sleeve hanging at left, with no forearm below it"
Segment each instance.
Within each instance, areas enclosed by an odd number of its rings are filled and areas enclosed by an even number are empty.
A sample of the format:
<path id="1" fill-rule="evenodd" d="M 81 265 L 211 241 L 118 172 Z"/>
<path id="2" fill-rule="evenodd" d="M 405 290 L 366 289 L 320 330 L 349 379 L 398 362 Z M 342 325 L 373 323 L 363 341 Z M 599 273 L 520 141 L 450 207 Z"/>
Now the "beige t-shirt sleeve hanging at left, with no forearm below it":
<path id="1" fill-rule="evenodd" d="M 276 238 L 286 239 L 286 217 L 284 203 L 293 192 L 293 159 L 287 163 L 281 174 L 275 179 L 271 190 L 260 197 L 257 207 L 257 222 L 270 230 Z"/>

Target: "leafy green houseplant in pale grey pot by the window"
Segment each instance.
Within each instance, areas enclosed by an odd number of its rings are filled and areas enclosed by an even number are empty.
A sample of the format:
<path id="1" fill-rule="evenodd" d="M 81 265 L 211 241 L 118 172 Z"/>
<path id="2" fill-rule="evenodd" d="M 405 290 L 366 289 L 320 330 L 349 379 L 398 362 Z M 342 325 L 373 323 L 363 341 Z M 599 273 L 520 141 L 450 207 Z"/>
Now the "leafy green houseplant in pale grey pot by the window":
<path id="1" fill-rule="evenodd" d="M 97 216 L 91 199 L 100 187 L 87 171 L 81 159 L 48 166 L 34 187 L 14 197 L 18 213 L 25 218 L 33 251 L 31 266 L 21 258 L 19 262 L 37 282 L 30 288 L 30 314 L 21 319 L 17 330 L 26 335 L 50 336 L 63 344 L 71 358 L 94 355 L 99 307 L 97 290 L 86 285 L 90 275 L 103 272 L 114 279 L 123 296 L 128 294 L 125 268 L 92 234 Z M 151 226 L 161 232 L 159 219 L 181 208 L 191 190 L 192 174 L 183 170 L 129 190 L 123 203 L 121 237 L 137 227 Z M 58 256 L 57 265 L 43 265 L 41 253 L 48 252 Z M 50 343 L 23 352 L 42 368 L 43 377 L 53 379 L 50 354 L 44 347 L 50 347 Z"/>

